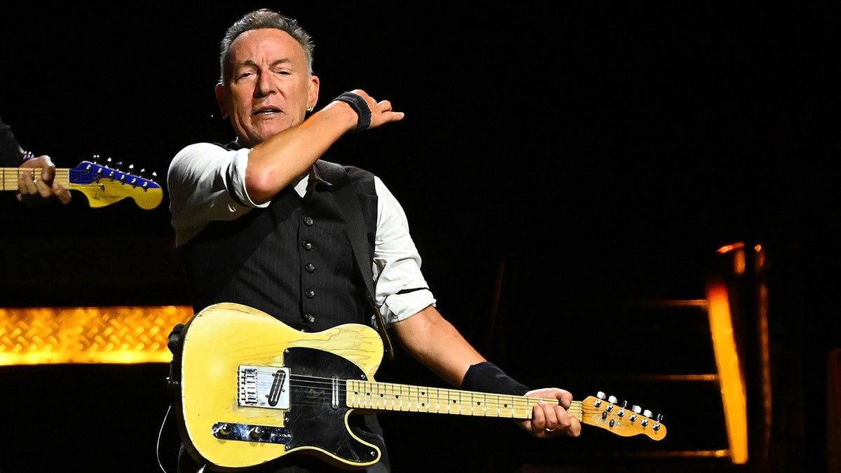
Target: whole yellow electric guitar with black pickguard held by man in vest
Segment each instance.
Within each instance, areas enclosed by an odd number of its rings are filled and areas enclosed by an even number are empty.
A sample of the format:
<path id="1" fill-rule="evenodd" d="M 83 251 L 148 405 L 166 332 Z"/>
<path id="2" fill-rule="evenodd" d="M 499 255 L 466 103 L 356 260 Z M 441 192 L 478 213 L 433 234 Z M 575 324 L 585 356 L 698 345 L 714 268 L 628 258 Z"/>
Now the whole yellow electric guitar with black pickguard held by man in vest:
<path id="1" fill-rule="evenodd" d="M 240 304 L 198 312 L 184 329 L 182 348 L 174 364 L 181 436 L 193 458 L 214 470 L 240 470 L 296 453 L 347 470 L 373 465 L 380 450 L 348 427 L 347 417 L 355 412 L 528 419 L 538 402 L 558 402 L 379 383 L 373 374 L 383 343 L 373 328 L 346 324 L 299 332 Z M 573 401 L 569 412 L 617 435 L 665 437 L 659 416 L 602 397 Z"/>

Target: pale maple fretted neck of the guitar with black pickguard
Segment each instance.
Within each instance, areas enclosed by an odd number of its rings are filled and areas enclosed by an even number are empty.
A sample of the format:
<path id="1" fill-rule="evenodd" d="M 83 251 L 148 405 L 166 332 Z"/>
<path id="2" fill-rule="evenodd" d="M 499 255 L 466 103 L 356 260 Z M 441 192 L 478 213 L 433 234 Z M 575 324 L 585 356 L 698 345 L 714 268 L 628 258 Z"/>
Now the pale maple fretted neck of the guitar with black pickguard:
<path id="1" fill-rule="evenodd" d="M 460 416 L 531 419 L 535 405 L 558 404 L 557 399 L 489 394 L 475 391 L 347 380 L 346 403 L 368 411 L 428 412 Z M 567 411 L 582 420 L 580 401 Z"/>

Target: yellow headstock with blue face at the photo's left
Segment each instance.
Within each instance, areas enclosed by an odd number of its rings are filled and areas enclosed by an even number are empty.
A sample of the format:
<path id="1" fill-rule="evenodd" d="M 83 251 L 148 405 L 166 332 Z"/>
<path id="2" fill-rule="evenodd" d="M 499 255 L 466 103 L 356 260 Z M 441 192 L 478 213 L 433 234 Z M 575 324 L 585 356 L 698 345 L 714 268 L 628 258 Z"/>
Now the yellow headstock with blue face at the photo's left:
<path id="1" fill-rule="evenodd" d="M 130 197 L 141 209 L 151 210 L 163 199 L 163 189 L 155 181 L 90 161 L 82 161 L 70 170 L 70 188 L 87 195 L 91 207 L 104 207 Z"/>

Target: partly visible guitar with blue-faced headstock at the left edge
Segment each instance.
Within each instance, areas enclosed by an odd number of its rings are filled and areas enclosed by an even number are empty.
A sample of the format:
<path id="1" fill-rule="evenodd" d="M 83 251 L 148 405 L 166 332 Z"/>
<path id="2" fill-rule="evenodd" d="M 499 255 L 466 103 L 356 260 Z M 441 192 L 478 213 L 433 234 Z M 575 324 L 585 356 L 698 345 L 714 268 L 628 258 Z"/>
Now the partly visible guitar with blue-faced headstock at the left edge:
<path id="1" fill-rule="evenodd" d="M 0 167 L 0 173 L 3 173 L 0 190 L 18 190 L 20 173 L 32 173 L 40 178 L 41 170 L 40 167 Z M 82 161 L 72 169 L 56 168 L 55 181 L 65 189 L 85 194 L 91 207 L 104 207 L 130 197 L 141 209 L 151 210 L 163 199 L 163 189 L 154 181 L 90 161 Z"/>

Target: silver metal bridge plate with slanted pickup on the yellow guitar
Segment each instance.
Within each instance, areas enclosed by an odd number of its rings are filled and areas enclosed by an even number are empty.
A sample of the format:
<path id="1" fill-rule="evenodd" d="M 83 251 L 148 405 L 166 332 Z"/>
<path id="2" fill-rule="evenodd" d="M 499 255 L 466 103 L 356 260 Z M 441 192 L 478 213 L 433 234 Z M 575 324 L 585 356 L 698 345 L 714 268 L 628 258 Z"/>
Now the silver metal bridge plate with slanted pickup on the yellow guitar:
<path id="1" fill-rule="evenodd" d="M 237 378 L 240 407 L 289 408 L 289 369 L 241 364 Z"/>

